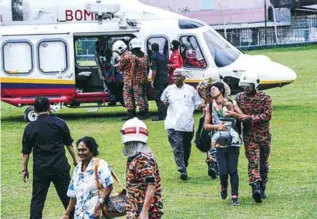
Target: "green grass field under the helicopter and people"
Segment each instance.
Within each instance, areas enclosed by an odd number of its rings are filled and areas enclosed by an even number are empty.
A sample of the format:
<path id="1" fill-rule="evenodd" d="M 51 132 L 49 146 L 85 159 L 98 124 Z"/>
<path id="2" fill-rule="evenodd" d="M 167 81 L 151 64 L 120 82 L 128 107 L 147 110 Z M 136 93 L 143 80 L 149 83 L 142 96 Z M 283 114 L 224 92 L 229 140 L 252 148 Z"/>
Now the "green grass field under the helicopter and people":
<path id="1" fill-rule="evenodd" d="M 241 206 L 232 207 L 230 198 L 222 201 L 219 180 L 210 180 L 205 155 L 193 145 L 190 180 L 182 182 L 176 170 L 163 122 L 147 120 L 153 149 L 160 167 L 164 192 L 164 218 L 317 218 L 317 47 L 253 51 L 264 54 L 297 72 L 298 79 L 284 88 L 267 91 L 273 99 L 271 123 L 273 142 L 270 156 L 268 198 L 255 204 L 250 196 L 247 161 L 240 150 Z M 277 72 L 278 74 L 278 72 Z M 155 111 L 151 103 L 151 111 Z M 1 105 L 1 218 L 27 218 L 32 189 L 32 173 L 21 180 L 21 136 L 26 126 L 24 109 Z M 124 109 L 104 108 L 98 113 L 87 109 L 64 109 L 74 139 L 93 136 L 100 146 L 100 157 L 108 161 L 124 181 L 125 158 L 121 155 L 119 130 Z M 201 113 L 196 113 L 196 121 Z M 197 123 L 196 123 L 197 124 Z M 30 161 L 29 169 L 32 161 Z M 51 186 L 44 218 L 59 218 L 63 208 Z"/>

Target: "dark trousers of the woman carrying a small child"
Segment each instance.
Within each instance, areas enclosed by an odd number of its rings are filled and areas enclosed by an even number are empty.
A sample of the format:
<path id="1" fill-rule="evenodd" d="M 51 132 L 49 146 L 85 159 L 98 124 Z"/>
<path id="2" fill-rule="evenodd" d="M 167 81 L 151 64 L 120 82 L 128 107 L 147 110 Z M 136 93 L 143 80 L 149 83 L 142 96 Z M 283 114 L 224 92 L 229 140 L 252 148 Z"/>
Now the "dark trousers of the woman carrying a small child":
<path id="1" fill-rule="evenodd" d="M 217 148 L 220 184 L 222 188 L 228 188 L 228 175 L 230 175 L 232 195 L 239 194 L 239 149 L 239 147 Z"/>

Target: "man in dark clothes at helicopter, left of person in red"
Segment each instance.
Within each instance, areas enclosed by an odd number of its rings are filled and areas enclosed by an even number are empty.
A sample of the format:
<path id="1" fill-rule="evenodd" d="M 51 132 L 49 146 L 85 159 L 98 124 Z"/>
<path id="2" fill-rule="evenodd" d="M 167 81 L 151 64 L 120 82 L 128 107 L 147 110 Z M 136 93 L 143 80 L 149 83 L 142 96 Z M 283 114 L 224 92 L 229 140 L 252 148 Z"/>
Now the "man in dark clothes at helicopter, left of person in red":
<path id="1" fill-rule="evenodd" d="M 164 120 L 166 117 L 166 106 L 161 101 L 161 95 L 168 86 L 168 60 L 164 54 L 159 52 L 159 45 L 157 43 L 152 44 L 152 51 L 154 54 L 151 56 L 151 85 L 154 88 L 155 102 L 159 112 L 159 115 L 153 117 L 152 120 L 159 121 Z"/>

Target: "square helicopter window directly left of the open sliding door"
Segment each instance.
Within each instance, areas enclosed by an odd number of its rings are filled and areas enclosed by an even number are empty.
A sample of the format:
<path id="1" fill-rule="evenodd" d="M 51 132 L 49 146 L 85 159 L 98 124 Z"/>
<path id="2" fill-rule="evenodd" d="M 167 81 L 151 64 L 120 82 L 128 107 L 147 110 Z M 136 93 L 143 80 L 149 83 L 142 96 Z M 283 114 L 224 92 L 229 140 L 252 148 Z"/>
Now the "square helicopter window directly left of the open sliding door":
<path id="1" fill-rule="evenodd" d="M 39 69 L 44 73 L 65 72 L 68 68 L 64 41 L 42 41 L 38 46 Z"/>

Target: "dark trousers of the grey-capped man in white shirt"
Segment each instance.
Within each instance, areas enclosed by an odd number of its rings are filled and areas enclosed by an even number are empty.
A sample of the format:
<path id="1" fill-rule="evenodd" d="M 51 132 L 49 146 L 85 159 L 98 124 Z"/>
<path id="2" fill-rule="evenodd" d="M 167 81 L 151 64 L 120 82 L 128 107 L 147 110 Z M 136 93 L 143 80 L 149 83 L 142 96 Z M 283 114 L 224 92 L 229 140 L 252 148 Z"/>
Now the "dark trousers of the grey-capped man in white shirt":
<path id="1" fill-rule="evenodd" d="M 168 129 L 168 140 L 173 148 L 177 169 L 181 173 L 187 173 L 188 160 L 191 152 L 191 141 L 194 132 L 181 132 Z"/>

